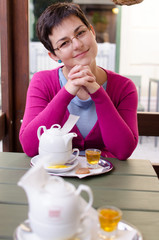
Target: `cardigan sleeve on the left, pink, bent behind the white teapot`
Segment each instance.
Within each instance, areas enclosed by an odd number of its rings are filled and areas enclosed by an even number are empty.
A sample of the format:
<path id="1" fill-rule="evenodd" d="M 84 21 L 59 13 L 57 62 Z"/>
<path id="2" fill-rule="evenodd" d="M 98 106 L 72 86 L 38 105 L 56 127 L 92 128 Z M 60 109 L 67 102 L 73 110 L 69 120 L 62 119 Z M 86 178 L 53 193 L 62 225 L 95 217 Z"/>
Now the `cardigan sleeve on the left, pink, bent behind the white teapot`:
<path id="1" fill-rule="evenodd" d="M 57 93 L 52 93 L 54 89 L 49 89 L 41 79 L 36 76 L 35 78 L 28 88 L 25 113 L 19 133 L 23 151 L 30 157 L 38 154 L 38 127 L 44 125 L 49 129 L 55 123 L 62 125 L 66 121 L 64 116 L 67 106 L 74 97 L 64 87 Z"/>

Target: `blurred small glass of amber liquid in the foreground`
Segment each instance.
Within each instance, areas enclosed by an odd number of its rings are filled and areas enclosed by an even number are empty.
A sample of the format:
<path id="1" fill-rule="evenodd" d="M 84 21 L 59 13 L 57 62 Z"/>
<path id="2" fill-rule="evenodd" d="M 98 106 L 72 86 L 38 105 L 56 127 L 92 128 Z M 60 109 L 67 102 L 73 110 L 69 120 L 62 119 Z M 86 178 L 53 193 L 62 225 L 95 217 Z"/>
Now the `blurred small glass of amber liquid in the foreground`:
<path id="1" fill-rule="evenodd" d="M 118 223 L 122 218 L 122 211 L 114 206 L 102 206 L 97 209 L 99 219 L 100 239 L 113 240 L 117 236 Z"/>

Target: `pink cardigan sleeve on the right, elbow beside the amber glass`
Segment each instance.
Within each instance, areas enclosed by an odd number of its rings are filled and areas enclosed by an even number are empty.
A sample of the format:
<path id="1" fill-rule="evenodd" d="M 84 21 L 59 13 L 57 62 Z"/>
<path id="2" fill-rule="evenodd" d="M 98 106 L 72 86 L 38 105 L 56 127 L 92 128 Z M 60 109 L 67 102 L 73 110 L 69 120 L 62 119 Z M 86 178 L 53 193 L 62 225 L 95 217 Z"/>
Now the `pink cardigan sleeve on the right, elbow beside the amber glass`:
<path id="1" fill-rule="evenodd" d="M 91 94 L 91 97 L 95 102 L 105 147 L 118 159 L 125 160 L 138 142 L 137 91 L 133 83 L 122 90 L 119 91 L 124 94 L 119 96 L 118 93 L 116 106 L 103 87 Z"/>

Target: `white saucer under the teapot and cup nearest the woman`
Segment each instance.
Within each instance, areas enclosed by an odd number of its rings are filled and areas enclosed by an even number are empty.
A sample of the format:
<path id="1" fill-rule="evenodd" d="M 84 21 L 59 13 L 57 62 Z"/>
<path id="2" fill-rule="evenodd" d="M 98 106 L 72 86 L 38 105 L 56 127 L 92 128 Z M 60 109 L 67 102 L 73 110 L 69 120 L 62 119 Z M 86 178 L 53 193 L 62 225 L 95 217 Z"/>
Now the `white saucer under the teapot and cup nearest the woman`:
<path id="1" fill-rule="evenodd" d="M 75 156 L 72 154 L 70 160 L 73 159 L 74 157 Z M 33 157 L 30 161 L 31 166 L 35 166 L 40 160 L 41 160 L 40 155 L 37 155 L 37 156 Z M 65 164 L 65 166 L 67 166 L 66 168 L 47 168 L 47 167 L 45 167 L 45 169 L 49 173 L 64 173 L 64 172 L 71 171 L 77 165 L 78 165 L 78 159 L 73 161 L 73 163 L 66 163 Z"/>

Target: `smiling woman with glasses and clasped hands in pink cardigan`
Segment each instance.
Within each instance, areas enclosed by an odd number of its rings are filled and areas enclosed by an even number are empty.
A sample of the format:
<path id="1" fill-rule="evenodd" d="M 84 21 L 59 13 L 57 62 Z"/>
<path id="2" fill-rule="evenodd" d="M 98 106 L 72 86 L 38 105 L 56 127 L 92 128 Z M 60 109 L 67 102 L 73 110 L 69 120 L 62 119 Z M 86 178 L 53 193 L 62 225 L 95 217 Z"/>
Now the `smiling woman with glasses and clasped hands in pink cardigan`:
<path id="1" fill-rule="evenodd" d="M 127 159 L 138 142 L 137 91 L 130 79 L 96 65 L 93 27 L 74 3 L 49 6 L 37 23 L 40 41 L 62 67 L 34 74 L 27 93 L 20 142 L 38 154 L 37 129 L 64 125 L 79 115 L 73 147 L 99 148 L 102 156 Z"/>

